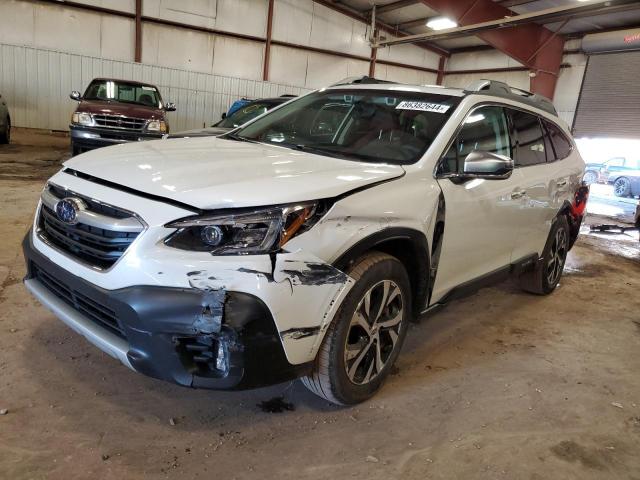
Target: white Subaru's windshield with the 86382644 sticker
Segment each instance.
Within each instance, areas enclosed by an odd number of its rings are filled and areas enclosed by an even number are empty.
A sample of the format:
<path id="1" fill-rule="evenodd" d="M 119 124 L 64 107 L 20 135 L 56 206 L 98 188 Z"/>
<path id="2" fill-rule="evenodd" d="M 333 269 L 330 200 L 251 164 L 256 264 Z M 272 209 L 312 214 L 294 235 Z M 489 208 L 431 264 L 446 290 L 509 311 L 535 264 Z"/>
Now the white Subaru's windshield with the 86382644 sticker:
<path id="1" fill-rule="evenodd" d="M 395 90 L 326 90 L 295 100 L 229 138 L 321 155 L 409 164 L 420 159 L 459 97 Z"/>

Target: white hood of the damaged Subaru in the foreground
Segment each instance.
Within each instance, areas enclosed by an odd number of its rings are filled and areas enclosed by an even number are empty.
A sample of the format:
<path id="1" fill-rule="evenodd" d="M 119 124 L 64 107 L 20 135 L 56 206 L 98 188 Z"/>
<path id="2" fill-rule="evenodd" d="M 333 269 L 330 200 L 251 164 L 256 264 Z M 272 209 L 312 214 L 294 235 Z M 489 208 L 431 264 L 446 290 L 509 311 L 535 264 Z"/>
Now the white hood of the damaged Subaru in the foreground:
<path id="1" fill-rule="evenodd" d="M 216 137 L 100 148 L 64 165 L 201 209 L 331 198 L 404 174 L 397 165 L 342 160 Z"/>

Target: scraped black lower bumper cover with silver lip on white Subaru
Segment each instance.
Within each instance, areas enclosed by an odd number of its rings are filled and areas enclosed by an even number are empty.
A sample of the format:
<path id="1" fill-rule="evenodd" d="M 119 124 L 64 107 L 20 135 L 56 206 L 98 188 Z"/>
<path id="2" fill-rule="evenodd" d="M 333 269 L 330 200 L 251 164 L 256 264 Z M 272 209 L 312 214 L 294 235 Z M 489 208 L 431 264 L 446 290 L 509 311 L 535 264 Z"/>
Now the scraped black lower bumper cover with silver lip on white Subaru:
<path id="1" fill-rule="evenodd" d="M 310 371 L 310 362 L 288 361 L 283 334 L 254 295 L 156 286 L 105 290 L 40 254 L 31 233 L 23 249 L 25 284 L 32 293 L 39 292 L 38 299 L 65 323 L 137 372 L 189 387 L 243 389 Z M 73 315 L 85 323 L 74 322 Z"/>

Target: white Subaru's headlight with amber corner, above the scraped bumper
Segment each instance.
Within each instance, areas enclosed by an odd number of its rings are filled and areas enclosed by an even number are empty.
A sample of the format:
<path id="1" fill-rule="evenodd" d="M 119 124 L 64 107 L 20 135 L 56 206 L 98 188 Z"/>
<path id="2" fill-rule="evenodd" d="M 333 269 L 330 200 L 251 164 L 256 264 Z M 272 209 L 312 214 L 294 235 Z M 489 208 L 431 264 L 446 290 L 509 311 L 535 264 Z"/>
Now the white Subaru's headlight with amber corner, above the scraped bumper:
<path id="1" fill-rule="evenodd" d="M 320 218 L 318 202 L 238 213 L 203 215 L 166 225 L 177 228 L 165 244 L 214 255 L 257 255 L 278 251 Z"/>

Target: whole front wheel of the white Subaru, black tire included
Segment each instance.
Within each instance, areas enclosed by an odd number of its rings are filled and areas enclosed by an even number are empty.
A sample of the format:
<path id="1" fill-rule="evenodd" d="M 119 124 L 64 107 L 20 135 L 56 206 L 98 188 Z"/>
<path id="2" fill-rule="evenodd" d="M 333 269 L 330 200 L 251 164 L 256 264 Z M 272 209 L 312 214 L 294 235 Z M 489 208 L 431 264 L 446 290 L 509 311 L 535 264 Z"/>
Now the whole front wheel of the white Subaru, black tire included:
<path id="1" fill-rule="evenodd" d="M 353 405 L 375 395 L 398 357 L 411 319 L 409 276 L 395 257 L 370 252 L 356 261 L 348 273 L 356 283 L 327 329 L 312 374 L 301 379 L 313 393 L 338 405 Z M 395 293 L 396 288 L 399 297 Z M 383 302 L 378 300 L 385 293 L 391 301 L 386 307 L 380 308 Z M 364 315 L 366 310 L 363 302 L 367 295 L 370 299 L 369 313 L 379 311 L 378 316 L 370 315 L 377 317 L 371 322 Z M 373 328 L 367 332 L 360 322 L 353 323 L 358 309 L 362 312 L 358 318 L 366 320 L 369 327 L 370 323 L 373 324 Z M 397 329 L 383 327 L 383 324 L 394 322 L 396 318 L 400 318 Z M 346 358 L 349 351 L 350 355 L 354 355 L 351 359 Z M 378 353 L 382 365 L 379 370 Z M 375 375 L 373 369 L 376 370 Z"/>

